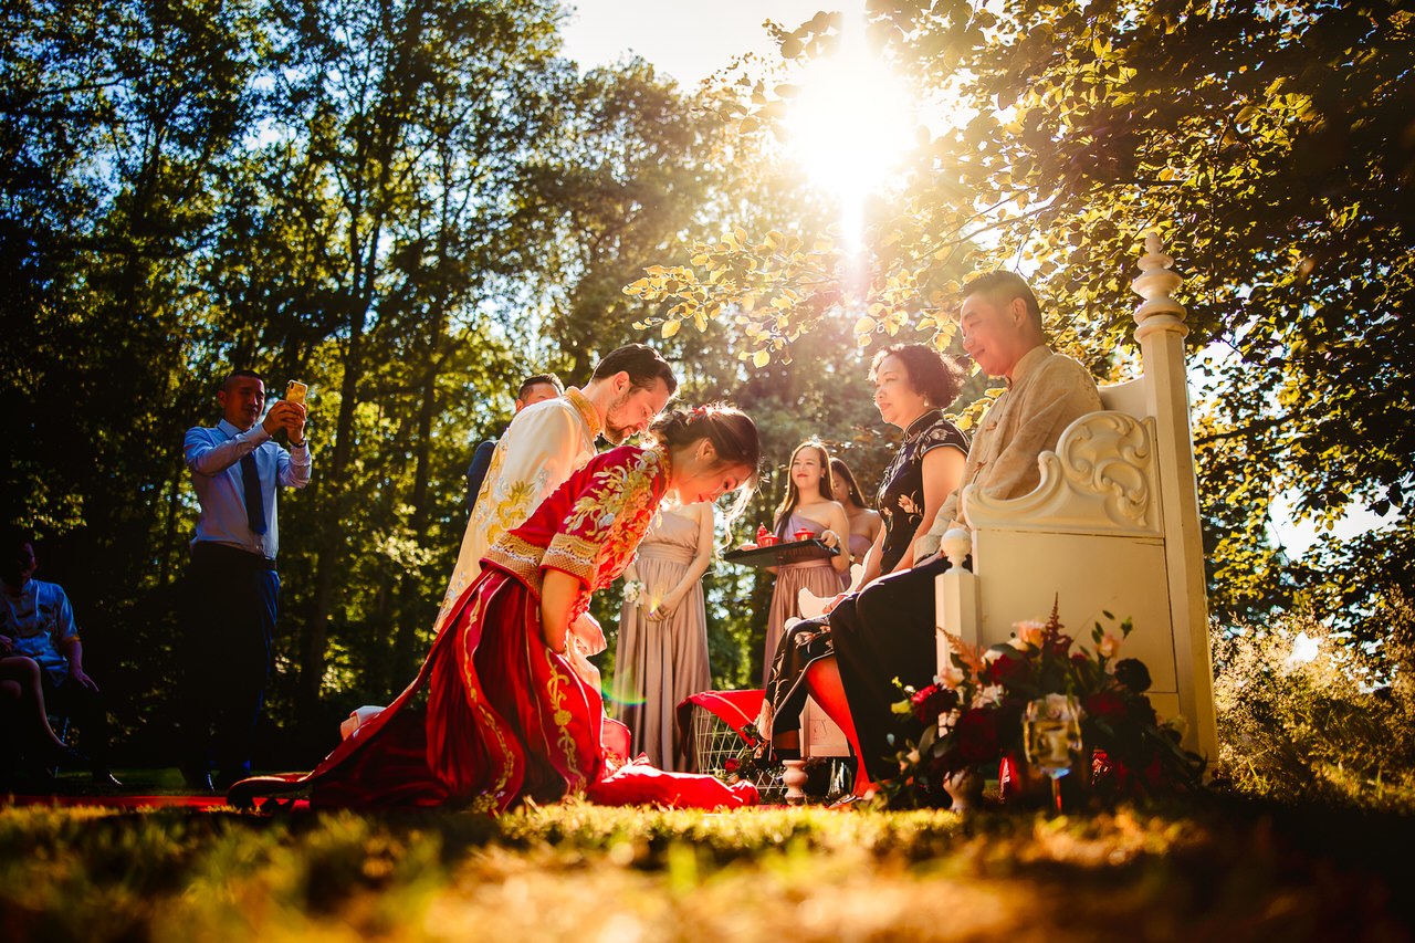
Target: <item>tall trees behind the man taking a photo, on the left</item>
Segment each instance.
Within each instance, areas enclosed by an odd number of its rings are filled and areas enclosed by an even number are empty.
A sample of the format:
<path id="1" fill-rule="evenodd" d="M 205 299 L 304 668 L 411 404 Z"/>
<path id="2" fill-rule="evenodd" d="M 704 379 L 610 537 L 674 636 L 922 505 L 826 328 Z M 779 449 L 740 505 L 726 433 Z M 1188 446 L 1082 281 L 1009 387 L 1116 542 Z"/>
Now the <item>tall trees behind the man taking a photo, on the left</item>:
<path id="1" fill-rule="evenodd" d="M 170 758 L 183 430 L 232 367 L 310 384 L 267 711 L 308 739 L 258 756 L 306 766 L 416 671 L 519 378 L 582 382 L 641 340 L 618 286 L 647 253 L 794 198 L 734 177 L 713 109 L 642 62 L 582 78 L 548 0 L 13 7 L 0 517 L 40 532 L 129 750 Z M 685 394 L 732 398 L 716 345 L 666 344 Z"/>

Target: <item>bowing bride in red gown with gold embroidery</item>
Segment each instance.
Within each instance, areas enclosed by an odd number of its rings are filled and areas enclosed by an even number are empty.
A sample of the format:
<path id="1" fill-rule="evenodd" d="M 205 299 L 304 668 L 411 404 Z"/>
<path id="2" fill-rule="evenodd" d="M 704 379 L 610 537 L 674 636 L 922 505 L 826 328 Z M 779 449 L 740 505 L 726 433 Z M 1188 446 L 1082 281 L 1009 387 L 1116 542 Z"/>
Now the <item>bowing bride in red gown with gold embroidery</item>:
<path id="1" fill-rule="evenodd" d="M 683 504 L 756 481 L 757 429 L 729 406 L 672 411 L 655 445 L 596 456 L 483 558 L 417 678 L 320 766 L 232 786 L 232 804 L 310 790 L 321 806 L 456 806 L 504 811 L 582 794 L 606 804 L 740 806 L 750 783 L 625 765 L 570 626 L 634 556 L 669 491 Z M 589 673 L 586 673 L 589 674 Z"/>

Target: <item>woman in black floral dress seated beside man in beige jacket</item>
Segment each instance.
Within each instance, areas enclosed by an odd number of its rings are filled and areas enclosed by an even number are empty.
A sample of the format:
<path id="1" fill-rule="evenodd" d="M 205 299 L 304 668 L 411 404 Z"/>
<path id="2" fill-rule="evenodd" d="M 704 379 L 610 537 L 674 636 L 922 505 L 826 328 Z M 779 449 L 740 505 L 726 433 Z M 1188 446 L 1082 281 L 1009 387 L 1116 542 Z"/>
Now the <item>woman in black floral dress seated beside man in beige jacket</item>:
<path id="1" fill-rule="evenodd" d="M 896 344 L 882 350 L 870 367 L 874 381 L 874 405 L 880 418 L 904 430 L 894 460 L 884 469 L 877 494 L 879 511 L 884 518 L 880 531 L 865 556 L 863 572 L 848 593 L 831 600 L 821 619 L 792 626 L 777 647 L 777 657 L 767 681 L 763 732 L 773 746 L 790 758 L 798 749 L 799 715 L 805 695 L 811 694 L 821 708 L 839 724 L 859 759 L 855 793 L 872 790 L 867 763 L 877 767 L 873 752 L 887 745 L 897 721 L 889 702 L 883 711 L 846 707 L 842 670 L 852 674 L 891 671 L 886 680 L 893 685 L 899 677 L 906 684 L 923 687 L 934 674 L 932 639 L 928 651 L 914 640 L 900 646 L 882 644 L 877 650 L 849 654 L 838 651 L 831 626 L 836 619 L 853 612 L 856 595 L 880 576 L 907 571 L 914 565 L 914 541 L 934 522 L 944 498 L 958 487 L 968 459 L 968 439 L 944 418 L 947 406 L 962 387 L 964 372 L 932 347 Z M 842 610 L 843 609 L 843 610 Z M 839 615 L 836 615 L 839 613 Z M 849 664 L 842 668 L 841 658 Z"/>

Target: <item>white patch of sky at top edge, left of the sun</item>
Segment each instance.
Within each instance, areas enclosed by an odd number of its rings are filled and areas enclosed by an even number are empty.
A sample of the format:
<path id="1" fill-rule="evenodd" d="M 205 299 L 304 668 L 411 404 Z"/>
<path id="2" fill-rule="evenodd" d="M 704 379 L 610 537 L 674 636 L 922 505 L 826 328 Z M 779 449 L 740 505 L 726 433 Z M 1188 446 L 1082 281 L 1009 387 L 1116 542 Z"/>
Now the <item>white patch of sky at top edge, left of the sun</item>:
<path id="1" fill-rule="evenodd" d="M 582 68 L 637 54 L 682 85 L 696 85 L 741 52 L 773 48 L 763 20 L 795 28 L 839 0 L 566 0 L 574 8 L 562 35 Z"/>

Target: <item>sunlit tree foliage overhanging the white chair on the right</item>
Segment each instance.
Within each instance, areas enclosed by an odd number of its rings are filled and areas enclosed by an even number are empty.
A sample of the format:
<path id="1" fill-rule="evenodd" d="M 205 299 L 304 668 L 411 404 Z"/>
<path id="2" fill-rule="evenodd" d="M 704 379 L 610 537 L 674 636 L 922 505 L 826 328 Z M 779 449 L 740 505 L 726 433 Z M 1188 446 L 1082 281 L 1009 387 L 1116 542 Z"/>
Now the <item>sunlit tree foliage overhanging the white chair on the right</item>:
<path id="1" fill-rule="evenodd" d="M 863 258 L 825 229 L 743 224 L 625 290 L 661 300 L 665 326 L 741 324 L 741 355 L 764 364 L 833 310 L 857 317 L 862 340 L 906 323 L 947 338 L 958 265 L 1022 265 L 1056 343 L 1114 379 L 1132 370 L 1139 238 L 1157 229 L 1204 351 L 1196 445 L 1215 606 L 1265 612 L 1333 565 L 1344 585 L 1378 592 L 1368 575 L 1411 556 L 1408 528 L 1289 568 L 1268 508 L 1292 490 L 1319 524 L 1360 505 L 1404 520 L 1411 13 L 1040 0 L 879 3 L 866 18 L 872 48 L 964 118 L 920 129 L 907 178 L 870 211 Z M 828 55 L 842 28 L 822 13 L 780 30 L 781 51 Z M 791 96 L 746 78 L 734 88 L 723 113 L 747 136 L 767 135 Z M 1411 592 L 1404 575 L 1382 582 Z"/>

